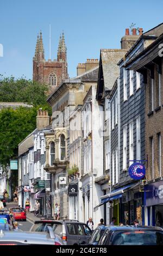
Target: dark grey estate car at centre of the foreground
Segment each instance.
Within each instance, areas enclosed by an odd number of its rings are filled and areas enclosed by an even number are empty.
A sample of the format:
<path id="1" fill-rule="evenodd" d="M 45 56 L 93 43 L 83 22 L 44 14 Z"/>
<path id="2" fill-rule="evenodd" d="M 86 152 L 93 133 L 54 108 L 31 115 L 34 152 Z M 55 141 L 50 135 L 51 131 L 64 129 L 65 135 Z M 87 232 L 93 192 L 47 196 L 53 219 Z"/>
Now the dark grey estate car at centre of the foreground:
<path id="1" fill-rule="evenodd" d="M 30 231 L 45 232 L 48 226 L 59 235 L 64 245 L 87 245 L 91 236 L 91 229 L 83 222 L 76 220 L 40 220 L 35 221 Z"/>

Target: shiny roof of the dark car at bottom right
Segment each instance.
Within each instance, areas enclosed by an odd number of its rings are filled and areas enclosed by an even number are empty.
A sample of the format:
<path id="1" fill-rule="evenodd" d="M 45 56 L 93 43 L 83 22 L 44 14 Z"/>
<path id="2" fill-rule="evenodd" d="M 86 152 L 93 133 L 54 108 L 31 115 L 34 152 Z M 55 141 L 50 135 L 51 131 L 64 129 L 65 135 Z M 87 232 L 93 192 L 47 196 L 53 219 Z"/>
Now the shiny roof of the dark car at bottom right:
<path id="1" fill-rule="evenodd" d="M 160 227 L 152 227 L 152 226 L 138 226 L 135 227 L 134 225 L 123 225 L 123 226 L 107 226 L 110 228 L 112 231 L 117 231 L 117 230 L 161 230 L 163 231 L 162 228 Z"/>

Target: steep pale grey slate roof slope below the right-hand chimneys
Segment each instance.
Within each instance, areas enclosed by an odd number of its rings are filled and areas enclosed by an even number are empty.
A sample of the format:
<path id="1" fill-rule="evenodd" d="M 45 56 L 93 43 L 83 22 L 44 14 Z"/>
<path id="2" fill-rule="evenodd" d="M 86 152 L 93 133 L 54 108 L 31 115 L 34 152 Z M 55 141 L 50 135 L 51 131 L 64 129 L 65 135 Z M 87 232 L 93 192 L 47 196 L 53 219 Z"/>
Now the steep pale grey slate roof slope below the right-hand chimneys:
<path id="1" fill-rule="evenodd" d="M 120 75 L 118 61 L 124 56 L 124 49 L 101 49 L 102 69 L 105 90 L 111 90 Z"/>

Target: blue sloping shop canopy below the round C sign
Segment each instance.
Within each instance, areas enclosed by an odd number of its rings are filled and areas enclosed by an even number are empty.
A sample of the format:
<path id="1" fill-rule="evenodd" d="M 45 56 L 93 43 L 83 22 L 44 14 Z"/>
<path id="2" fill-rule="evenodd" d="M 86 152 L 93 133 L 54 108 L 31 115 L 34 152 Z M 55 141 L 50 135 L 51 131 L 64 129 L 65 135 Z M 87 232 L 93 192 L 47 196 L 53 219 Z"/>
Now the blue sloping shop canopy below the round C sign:
<path id="1" fill-rule="evenodd" d="M 110 192 L 109 194 L 105 194 L 105 196 L 102 196 L 101 197 L 101 203 L 98 205 L 98 206 L 101 206 L 105 203 L 108 203 L 109 201 L 111 200 L 115 200 L 115 199 L 118 199 L 118 198 L 121 198 L 122 197 L 122 194 L 124 192 L 126 192 L 127 190 L 133 188 L 133 187 L 136 187 L 138 184 L 130 184 L 130 185 L 126 185 L 124 187 L 120 187 L 120 188 L 117 188 L 117 190 L 114 190 L 112 192 Z"/>

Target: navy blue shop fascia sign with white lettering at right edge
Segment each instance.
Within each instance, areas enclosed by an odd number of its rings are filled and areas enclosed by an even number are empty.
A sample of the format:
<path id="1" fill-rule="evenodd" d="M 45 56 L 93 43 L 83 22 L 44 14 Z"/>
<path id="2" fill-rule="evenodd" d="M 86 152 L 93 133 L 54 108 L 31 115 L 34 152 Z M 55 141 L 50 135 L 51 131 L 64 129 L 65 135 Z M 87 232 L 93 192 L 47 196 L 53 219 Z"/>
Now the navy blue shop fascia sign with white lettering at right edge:
<path id="1" fill-rule="evenodd" d="M 163 181 L 154 182 L 145 186 L 146 205 L 163 203 Z"/>

